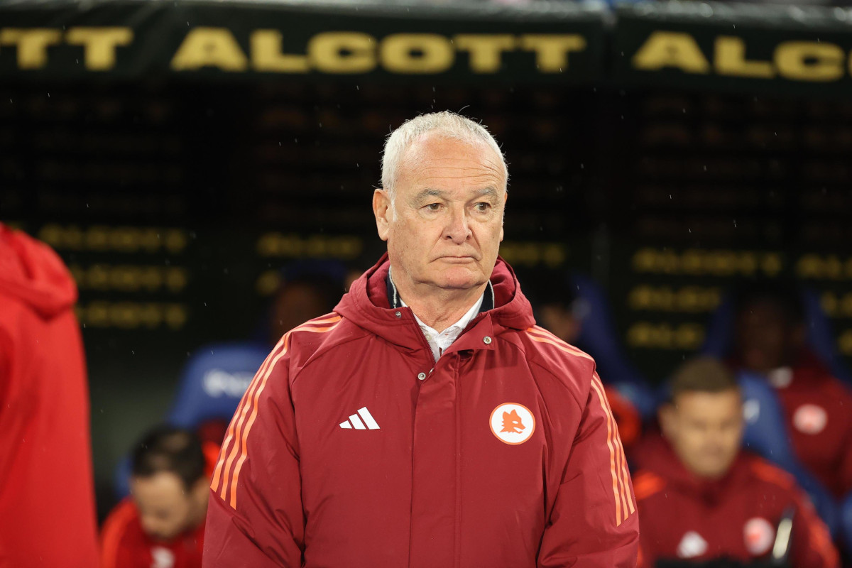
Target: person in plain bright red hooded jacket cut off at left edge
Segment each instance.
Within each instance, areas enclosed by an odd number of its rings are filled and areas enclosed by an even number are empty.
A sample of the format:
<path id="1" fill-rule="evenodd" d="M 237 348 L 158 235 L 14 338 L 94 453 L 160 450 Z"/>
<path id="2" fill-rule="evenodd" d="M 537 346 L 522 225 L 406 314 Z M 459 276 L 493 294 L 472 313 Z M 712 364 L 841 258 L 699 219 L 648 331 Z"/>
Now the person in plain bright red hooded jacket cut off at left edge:
<path id="1" fill-rule="evenodd" d="M 77 287 L 0 223 L 0 566 L 97 565 L 89 387 Z"/>

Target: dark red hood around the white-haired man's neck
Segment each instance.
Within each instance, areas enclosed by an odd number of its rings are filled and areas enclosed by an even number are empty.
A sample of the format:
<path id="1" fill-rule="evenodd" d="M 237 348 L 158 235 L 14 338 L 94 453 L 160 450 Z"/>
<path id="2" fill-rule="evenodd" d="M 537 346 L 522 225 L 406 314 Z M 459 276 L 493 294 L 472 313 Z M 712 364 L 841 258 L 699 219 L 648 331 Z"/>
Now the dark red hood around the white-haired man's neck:
<path id="1" fill-rule="evenodd" d="M 387 278 L 390 268 L 388 254 L 374 267 L 354 281 L 347 294 L 343 295 L 334 311 L 348 318 L 371 333 L 403 347 L 423 347 L 423 337 L 411 308 L 392 309 L 388 300 Z M 535 324 L 533 307 L 521 293 L 518 280 L 509 264 L 502 258 L 491 274 L 494 290 L 494 308 L 480 313 L 468 325 L 490 319 L 495 334 L 501 330 L 526 330 Z M 396 313 L 400 313 L 397 316 Z"/>

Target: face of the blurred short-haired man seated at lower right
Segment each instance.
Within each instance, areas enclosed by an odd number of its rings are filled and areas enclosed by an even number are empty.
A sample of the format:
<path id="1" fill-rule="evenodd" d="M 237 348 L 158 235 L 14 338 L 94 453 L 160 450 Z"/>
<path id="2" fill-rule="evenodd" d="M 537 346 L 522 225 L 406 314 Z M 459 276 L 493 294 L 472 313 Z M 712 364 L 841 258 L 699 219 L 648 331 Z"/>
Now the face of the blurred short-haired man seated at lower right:
<path id="1" fill-rule="evenodd" d="M 719 479 L 740 450 L 743 418 L 740 392 L 681 393 L 660 410 L 660 425 L 686 468 Z"/>

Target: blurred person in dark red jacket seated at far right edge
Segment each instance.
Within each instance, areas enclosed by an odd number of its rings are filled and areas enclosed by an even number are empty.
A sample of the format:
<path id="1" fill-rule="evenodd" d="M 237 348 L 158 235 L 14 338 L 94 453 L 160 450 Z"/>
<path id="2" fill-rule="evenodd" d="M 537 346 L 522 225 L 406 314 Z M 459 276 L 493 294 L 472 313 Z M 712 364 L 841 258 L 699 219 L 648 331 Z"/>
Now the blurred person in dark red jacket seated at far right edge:
<path id="1" fill-rule="evenodd" d="M 736 296 L 734 367 L 775 387 L 799 460 L 835 496 L 852 491 L 852 391 L 805 344 L 797 290 L 756 284 Z"/>

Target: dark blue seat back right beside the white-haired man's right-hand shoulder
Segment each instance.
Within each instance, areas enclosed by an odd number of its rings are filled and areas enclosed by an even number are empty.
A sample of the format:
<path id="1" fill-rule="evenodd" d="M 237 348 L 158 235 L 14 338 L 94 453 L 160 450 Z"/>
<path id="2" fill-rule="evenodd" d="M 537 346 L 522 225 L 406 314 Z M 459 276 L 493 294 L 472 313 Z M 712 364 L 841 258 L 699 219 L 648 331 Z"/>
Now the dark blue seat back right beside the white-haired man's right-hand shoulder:
<path id="1" fill-rule="evenodd" d="M 595 280 L 583 274 L 572 273 L 569 283 L 577 296 L 575 317 L 581 323 L 577 347 L 595 358 L 602 380 L 630 400 L 642 418 L 653 416 L 657 399 L 620 347 L 607 296 Z"/>

